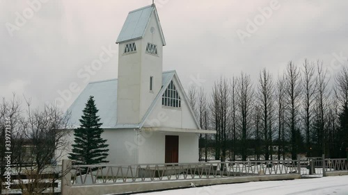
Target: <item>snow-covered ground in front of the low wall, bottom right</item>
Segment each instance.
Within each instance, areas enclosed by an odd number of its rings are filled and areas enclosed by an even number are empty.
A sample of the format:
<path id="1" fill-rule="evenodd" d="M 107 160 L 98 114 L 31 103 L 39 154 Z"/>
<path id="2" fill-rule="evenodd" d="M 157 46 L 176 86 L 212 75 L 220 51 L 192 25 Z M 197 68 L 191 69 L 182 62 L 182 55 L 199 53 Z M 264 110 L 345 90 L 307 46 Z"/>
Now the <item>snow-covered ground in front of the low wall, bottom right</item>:
<path id="1" fill-rule="evenodd" d="M 174 189 L 163 192 L 151 192 L 144 195 L 254 195 L 254 194 L 348 194 L 348 176 L 310 178 L 299 180 L 278 180 L 228 185 L 212 185 L 187 189 Z"/>

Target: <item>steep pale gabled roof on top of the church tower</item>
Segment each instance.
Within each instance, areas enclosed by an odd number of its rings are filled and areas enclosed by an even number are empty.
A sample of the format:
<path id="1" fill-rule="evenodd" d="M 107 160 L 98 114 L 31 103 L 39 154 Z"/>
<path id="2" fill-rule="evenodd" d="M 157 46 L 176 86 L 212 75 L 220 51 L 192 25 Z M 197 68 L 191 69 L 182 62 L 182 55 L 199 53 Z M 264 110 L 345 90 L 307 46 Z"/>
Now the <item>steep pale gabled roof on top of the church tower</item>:
<path id="1" fill-rule="evenodd" d="M 164 35 L 155 4 L 129 12 L 125 24 L 123 24 L 120 35 L 118 35 L 116 43 L 137 40 L 144 37 L 145 31 L 148 28 L 148 24 L 153 14 L 155 14 L 157 24 L 159 26 L 159 33 L 161 34 L 163 45 L 166 45 L 166 40 L 164 40 Z"/>

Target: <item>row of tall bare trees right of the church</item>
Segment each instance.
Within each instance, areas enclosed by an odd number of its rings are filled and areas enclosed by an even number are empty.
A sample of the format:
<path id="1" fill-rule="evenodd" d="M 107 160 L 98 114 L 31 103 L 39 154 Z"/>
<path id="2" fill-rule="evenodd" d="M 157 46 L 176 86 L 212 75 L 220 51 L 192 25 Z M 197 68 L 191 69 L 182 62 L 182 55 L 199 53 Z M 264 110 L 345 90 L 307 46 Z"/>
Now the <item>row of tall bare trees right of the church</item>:
<path id="1" fill-rule="evenodd" d="M 200 135 L 200 160 L 334 158 L 348 142 L 347 67 L 329 76 L 319 60 L 290 61 L 276 77 L 262 69 L 257 80 L 220 78 L 211 94 L 191 85 L 189 102 L 200 126 L 217 132 Z"/>

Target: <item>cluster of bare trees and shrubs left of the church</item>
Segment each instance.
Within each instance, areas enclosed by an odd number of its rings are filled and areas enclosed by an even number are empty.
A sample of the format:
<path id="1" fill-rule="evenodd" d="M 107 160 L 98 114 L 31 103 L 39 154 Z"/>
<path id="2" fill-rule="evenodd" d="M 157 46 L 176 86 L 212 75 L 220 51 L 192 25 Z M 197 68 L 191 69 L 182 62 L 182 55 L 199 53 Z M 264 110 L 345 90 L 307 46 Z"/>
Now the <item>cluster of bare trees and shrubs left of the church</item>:
<path id="1" fill-rule="evenodd" d="M 52 173 L 58 158 L 68 146 L 68 125 L 70 115 L 58 108 L 45 106 L 43 109 L 31 108 L 31 101 L 24 98 L 24 103 L 17 96 L 2 99 L 0 105 L 0 194 L 3 189 L 3 176 L 7 171 L 17 183 L 20 175 L 31 178 L 31 187 L 21 185 L 25 194 L 38 194 L 45 190 L 40 183 L 47 178 L 42 174 Z M 6 149 L 6 119 L 10 118 L 10 169 L 6 167 L 8 149 Z M 8 140 L 8 139 L 7 139 Z M 7 173 L 6 173 L 7 174 Z M 17 175 L 17 176 L 16 176 Z M 52 178 L 52 183 L 55 179 Z M 47 182 L 47 181 L 46 181 Z M 37 186 L 35 186 L 37 185 Z"/>

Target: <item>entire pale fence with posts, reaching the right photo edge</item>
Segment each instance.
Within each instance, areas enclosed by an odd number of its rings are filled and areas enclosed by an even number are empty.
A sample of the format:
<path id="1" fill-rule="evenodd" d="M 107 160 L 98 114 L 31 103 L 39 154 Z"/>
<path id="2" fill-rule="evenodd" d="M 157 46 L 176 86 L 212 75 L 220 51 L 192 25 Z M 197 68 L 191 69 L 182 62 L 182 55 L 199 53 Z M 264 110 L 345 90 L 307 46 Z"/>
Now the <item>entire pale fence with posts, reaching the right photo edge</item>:
<path id="1" fill-rule="evenodd" d="M 171 164 L 91 164 L 71 165 L 64 160 L 62 171 L 68 171 L 62 179 L 64 187 L 104 184 L 131 184 L 160 181 L 219 179 L 243 176 L 325 176 L 326 173 L 347 171 L 346 159 L 308 158 L 307 160 L 260 160 L 244 162 L 196 162 Z M 69 165 L 70 164 L 70 165 Z M 68 166 L 69 165 L 69 166 Z M 64 182 L 63 182 L 64 180 Z"/>

